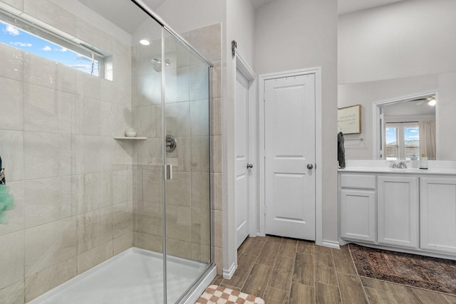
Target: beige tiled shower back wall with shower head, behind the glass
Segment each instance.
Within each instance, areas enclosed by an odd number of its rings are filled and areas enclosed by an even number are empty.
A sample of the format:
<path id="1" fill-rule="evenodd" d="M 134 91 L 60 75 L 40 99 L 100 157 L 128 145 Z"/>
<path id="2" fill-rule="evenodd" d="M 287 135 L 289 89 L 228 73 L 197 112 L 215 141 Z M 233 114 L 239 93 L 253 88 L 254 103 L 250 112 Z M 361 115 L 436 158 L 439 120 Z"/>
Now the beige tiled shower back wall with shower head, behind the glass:
<path id="1" fill-rule="evenodd" d="M 213 152 L 215 245 L 222 248 L 222 80 L 221 25 L 215 24 L 182 33 L 181 36 L 212 61 L 212 99 L 207 100 L 205 65 L 170 38 L 165 39 L 165 58 L 171 64 L 165 70 L 166 134 L 177 138 L 177 149 L 167 153 L 174 167 L 173 179 L 166 184 L 167 253 L 173 256 L 209 261 L 209 140 L 208 106 L 211 108 Z M 160 43 L 145 53 L 143 46 L 133 48 L 133 125 L 147 136 L 135 143 L 137 170 L 134 174 L 134 244 L 162 251 L 162 171 L 160 94 L 150 86 L 160 86 L 160 73 L 152 70 L 152 58 L 161 59 Z M 137 68 L 135 68 L 137 67 Z M 145 67 L 145 68 L 144 68 Z M 221 258 L 219 258 L 221 260 Z M 219 269 L 222 264 L 219 263 Z"/>

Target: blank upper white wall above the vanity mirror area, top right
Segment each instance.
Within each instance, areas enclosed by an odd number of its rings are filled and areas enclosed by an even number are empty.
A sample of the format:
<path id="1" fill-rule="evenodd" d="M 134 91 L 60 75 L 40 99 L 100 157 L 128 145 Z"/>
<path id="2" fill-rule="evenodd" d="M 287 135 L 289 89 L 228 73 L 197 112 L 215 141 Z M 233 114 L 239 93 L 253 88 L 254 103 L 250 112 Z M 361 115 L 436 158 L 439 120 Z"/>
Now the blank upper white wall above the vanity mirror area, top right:
<path id="1" fill-rule="evenodd" d="M 456 1 L 413 0 L 339 16 L 338 83 L 456 70 Z"/>

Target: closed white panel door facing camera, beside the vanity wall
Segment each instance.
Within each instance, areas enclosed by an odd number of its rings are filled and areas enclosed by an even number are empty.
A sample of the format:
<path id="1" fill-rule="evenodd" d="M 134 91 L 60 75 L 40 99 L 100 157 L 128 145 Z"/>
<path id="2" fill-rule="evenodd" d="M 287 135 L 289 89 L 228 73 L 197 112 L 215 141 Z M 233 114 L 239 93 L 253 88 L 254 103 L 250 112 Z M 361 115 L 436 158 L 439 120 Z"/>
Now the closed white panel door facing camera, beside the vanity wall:
<path id="1" fill-rule="evenodd" d="M 266 234 L 315 240 L 315 75 L 265 80 Z"/>

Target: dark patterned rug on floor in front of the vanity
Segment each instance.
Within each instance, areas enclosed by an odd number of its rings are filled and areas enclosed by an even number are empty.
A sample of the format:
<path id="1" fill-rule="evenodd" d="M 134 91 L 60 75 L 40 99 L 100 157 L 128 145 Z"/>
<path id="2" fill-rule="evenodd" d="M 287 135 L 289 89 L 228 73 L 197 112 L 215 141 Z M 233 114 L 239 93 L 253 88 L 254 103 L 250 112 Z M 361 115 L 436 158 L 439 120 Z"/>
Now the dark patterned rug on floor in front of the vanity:
<path id="1" fill-rule="evenodd" d="M 456 295 L 456 261 L 349 245 L 359 276 Z"/>

